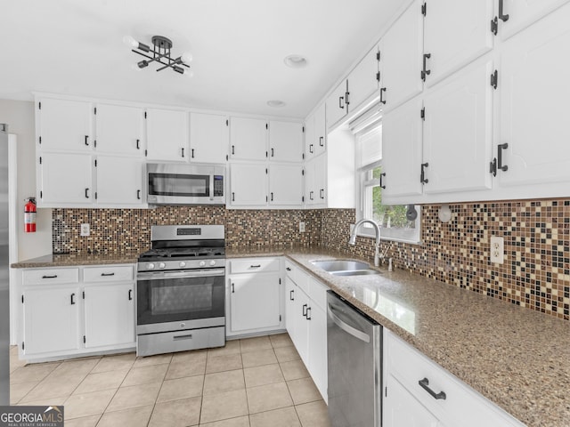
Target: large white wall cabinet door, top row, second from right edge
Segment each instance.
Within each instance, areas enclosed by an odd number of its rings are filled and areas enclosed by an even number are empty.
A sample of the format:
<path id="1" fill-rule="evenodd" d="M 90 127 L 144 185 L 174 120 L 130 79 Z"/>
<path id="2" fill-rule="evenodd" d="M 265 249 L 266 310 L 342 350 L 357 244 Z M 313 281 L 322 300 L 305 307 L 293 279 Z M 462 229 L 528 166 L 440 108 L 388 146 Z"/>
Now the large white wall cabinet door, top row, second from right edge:
<path id="1" fill-rule="evenodd" d="M 428 86 L 493 49 L 493 0 L 430 0 L 424 48 Z"/>

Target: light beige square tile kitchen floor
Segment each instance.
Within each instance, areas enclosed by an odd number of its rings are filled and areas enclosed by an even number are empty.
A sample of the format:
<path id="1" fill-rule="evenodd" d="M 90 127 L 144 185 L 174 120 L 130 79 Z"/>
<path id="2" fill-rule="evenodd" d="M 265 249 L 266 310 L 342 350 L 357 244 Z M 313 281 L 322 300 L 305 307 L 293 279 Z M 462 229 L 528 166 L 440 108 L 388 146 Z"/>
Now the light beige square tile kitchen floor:
<path id="1" fill-rule="evenodd" d="M 64 405 L 66 427 L 328 427 L 288 334 L 224 348 L 25 366 L 11 350 L 12 405 Z"/>

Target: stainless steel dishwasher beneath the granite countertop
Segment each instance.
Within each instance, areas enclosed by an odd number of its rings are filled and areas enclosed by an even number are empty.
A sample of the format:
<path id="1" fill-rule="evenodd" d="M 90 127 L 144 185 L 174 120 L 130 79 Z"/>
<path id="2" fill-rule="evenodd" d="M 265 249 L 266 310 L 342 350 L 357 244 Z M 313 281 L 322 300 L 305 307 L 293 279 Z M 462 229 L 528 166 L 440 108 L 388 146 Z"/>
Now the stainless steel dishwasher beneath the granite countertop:
<path id="1" fill-rule="evenodd" d="M 329 416 L 332 427 L 379 427 L 382 326 L 327 292 Z"/>

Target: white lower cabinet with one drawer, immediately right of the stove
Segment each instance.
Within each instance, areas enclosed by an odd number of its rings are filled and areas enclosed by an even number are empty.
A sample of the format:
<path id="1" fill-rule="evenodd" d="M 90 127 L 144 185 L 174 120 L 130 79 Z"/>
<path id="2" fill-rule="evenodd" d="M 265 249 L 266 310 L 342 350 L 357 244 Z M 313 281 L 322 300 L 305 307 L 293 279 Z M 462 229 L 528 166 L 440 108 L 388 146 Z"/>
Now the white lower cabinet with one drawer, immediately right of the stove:
<path id="1" fill-rule="evenodd" d="M 227 270 L 226 335 L 282 329 L 279 258 L 230 260 Z"/>

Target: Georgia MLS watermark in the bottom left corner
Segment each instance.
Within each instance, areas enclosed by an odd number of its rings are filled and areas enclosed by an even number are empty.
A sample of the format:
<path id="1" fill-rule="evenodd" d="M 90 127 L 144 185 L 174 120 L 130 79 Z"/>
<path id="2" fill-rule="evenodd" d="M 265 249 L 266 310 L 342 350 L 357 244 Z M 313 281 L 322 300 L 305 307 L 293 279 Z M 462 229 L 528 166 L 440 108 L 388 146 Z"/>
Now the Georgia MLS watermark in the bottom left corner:
<path id="1" fill-rule="evenodd" d="M 63 427 L 63 407 L 0 407 L 0 427 Z"/>

